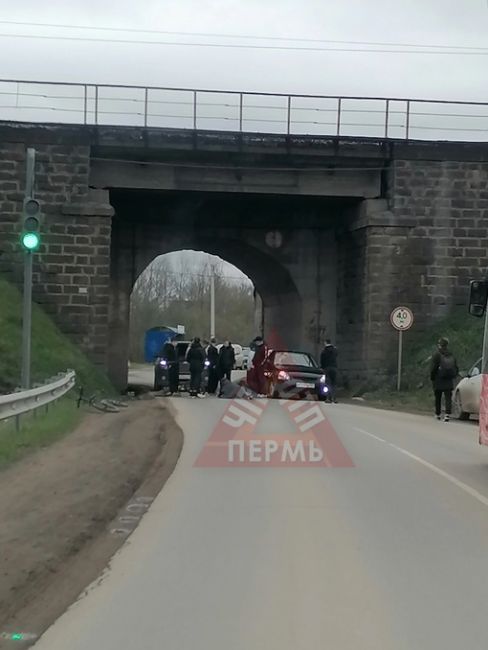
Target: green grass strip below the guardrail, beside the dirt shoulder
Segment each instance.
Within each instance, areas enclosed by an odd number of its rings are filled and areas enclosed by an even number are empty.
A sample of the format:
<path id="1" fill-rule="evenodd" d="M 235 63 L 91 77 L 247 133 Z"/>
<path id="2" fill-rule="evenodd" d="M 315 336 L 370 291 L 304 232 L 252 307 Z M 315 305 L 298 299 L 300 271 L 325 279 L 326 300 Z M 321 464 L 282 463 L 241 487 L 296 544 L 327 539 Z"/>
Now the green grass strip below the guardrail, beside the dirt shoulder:
<path id="1" fill-rule="evenodd" d="M 16 431 L 14 421 L 0 421 L 0 468 L 72 431 L 81 421 L 82 413 L 76 407 L 76 400 L 65 396 L 50 405 L 47 413 L 40 409 L 37 415 L 22 416 L 20 431 Z"/>

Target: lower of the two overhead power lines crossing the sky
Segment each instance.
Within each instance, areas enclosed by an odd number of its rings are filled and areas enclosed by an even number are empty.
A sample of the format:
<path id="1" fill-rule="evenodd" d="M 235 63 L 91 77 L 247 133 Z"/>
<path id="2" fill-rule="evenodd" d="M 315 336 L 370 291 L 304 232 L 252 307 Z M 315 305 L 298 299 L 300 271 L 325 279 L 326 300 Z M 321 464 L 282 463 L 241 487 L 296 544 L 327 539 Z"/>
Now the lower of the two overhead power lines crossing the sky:
<path id="1" fill-rule="evenodd" d="M 371 47 L 297 47 L 293 45 L 256 45 L 247 43 L 203 43 L 190 41 L 146 41 L 140 39 L 110 39 L 97 38 L 93 36 L 60 36 L 48 34 L 8 34 L 0 33 L 1 38 L 20 38 L 30 40 L 46 41 L 68 41 L 85 43 L 111 43 L 120 45 L 152 45 L 163 47 L 197 47 L 217 49 L 240 49 L 240 50 L 267 50 L 267 51 L 289 51 L 289 52 L 347 52 L 370 53 L 370 54 L 421 54 L 421 55 L 442 55 L 442 56 L 487 56 L 487 50 L 454 50 L 454 49 L 392 49 L 392 48 L 371 48 Z"/>

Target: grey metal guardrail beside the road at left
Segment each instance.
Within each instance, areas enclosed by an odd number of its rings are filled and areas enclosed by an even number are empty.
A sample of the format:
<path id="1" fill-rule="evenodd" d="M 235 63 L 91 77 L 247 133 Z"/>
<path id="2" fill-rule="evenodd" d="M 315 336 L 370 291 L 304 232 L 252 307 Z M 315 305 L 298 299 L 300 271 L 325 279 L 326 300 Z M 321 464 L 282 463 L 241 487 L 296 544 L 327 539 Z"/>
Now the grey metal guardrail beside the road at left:
<path id="1" fill-rule="evenodd" d="M 17 429 L 20 426 L 20 416 L 49 404 L 65 395 L 76 382 L 74 370 L 60 373 L 49 379 L 45 384 L 29 390 L 18 390 L 9 395 L 0 395 L 0 421 L 15 418 Z"/>

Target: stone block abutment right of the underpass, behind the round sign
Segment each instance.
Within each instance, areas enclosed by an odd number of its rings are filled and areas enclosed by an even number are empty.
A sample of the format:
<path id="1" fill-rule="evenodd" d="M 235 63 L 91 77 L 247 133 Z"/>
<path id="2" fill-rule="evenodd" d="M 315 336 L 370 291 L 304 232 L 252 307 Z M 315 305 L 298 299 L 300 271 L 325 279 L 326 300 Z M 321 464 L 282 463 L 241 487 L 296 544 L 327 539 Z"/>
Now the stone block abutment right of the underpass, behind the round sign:
<path id="1" fill-rule="evenodd" d="M 339 332 L 352 375 L 374 378 L 396 372 L 395 306 L 422 331 L 466 307 L 469 280 L 486 273 L 488 163 L 397 160 L 388 200 L 364 204 L 340 242 Z"/>

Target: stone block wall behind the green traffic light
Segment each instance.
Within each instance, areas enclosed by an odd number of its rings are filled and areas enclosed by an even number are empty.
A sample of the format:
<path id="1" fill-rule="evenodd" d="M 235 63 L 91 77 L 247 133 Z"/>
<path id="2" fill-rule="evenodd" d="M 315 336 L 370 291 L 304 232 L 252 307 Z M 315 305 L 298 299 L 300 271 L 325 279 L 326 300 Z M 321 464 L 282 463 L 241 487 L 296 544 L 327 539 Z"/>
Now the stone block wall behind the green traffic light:
<path id="1" fill-rule="evenodd" d="M 34 300 L 75 343 L 105 365 L 110 262 L 108 206 L 91 200 L 89 147 L 32 143 L 35 196 L 42 206 Z M 0 148 L 0 272 L 19 286 L 26 146 Z"/>

